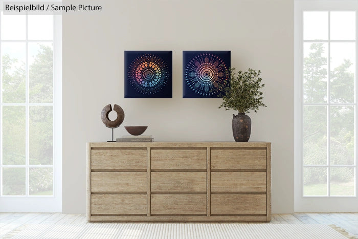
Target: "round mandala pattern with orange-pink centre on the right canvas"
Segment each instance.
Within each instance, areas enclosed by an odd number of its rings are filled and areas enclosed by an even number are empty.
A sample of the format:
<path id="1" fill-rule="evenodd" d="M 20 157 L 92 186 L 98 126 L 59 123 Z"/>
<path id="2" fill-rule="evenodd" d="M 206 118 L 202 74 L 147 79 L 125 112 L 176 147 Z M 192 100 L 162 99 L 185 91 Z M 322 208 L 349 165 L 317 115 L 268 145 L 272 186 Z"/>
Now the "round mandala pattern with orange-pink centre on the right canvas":
<path id="1" fill-rule="evenodd" d="M 228 83 L 228 67 L 220 57 L 203 53 L 192 58 L 185 67 L 185 82 L 200 96 L 217 96 Z"/>

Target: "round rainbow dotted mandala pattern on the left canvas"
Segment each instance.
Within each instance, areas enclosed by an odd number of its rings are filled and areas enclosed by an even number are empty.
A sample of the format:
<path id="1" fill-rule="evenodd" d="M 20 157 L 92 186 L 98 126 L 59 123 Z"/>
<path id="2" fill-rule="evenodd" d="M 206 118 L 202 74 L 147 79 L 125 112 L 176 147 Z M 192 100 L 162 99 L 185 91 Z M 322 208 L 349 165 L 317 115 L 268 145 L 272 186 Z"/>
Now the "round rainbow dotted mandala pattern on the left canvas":
<path id="1" fill-rule="evenodd" d="M 133 88 L 144 95 L 160 92 L 169 79 L 167 64 L 154 54 L 138 56 L 129 64 L 127 74 Z"/>

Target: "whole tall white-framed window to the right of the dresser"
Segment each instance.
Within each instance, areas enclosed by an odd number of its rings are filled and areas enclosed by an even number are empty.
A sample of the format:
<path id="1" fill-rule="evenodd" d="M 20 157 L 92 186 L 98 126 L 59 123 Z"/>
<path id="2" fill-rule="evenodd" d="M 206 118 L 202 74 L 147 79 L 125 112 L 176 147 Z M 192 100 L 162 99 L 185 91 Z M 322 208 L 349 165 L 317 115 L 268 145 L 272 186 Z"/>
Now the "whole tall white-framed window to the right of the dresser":
<path id="1" fill-rule="evenodd" d="M 295 2 L 296 211 L 357 207 L 357 9 L 350 1 Z M 310 208 L 314 201 L 322 209 Z"/>

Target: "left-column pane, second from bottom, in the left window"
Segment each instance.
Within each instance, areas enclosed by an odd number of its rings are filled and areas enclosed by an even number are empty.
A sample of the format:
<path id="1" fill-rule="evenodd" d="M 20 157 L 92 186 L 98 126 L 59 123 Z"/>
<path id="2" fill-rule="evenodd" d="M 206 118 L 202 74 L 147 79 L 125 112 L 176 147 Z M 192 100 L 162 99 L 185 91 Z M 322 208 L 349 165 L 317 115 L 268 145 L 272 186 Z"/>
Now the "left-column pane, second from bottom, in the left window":
<path id="1" fill-rule="evenodd" d="M 3 164 L 25 164 L 25 106 L 3 106 Z"/>

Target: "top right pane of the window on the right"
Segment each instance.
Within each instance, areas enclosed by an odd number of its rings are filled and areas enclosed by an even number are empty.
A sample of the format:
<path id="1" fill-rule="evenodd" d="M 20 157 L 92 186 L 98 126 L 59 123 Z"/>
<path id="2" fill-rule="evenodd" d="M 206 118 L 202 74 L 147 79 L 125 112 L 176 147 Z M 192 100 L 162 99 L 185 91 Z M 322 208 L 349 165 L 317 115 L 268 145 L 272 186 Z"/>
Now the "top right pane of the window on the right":
<path id="1" fill-rule="evenodd" d="M 355 39 L 355 12 L 331 12 L 331 40 Z"/>

